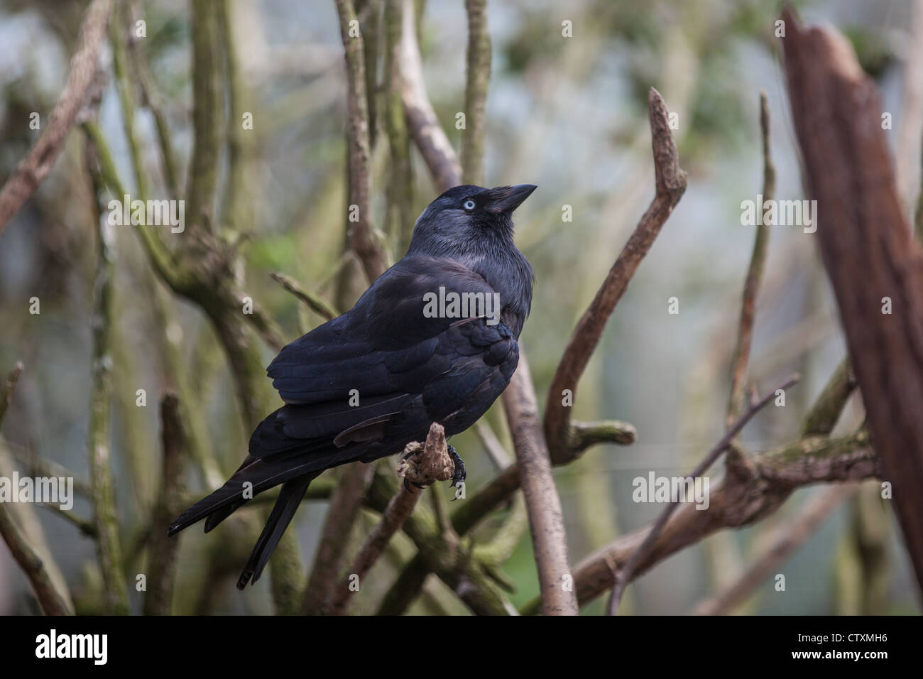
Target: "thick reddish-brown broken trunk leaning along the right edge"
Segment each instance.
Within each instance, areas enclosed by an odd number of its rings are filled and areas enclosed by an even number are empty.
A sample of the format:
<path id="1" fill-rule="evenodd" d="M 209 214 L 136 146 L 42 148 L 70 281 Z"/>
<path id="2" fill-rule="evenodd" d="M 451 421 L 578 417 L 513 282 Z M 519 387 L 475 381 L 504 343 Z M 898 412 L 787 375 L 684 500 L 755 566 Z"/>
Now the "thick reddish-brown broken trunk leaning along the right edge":
<path id="1" fill-rule="evenodd" d="M 881 97 L 850 43 L 783 13 L 785 75 L 813 226 L 884 479 L 923 586 L 923 251 L 896 188 Z M 848 196 L 849 200 L 844 200 Z M 892 306 L 885 310 L 882 305 Z"/>

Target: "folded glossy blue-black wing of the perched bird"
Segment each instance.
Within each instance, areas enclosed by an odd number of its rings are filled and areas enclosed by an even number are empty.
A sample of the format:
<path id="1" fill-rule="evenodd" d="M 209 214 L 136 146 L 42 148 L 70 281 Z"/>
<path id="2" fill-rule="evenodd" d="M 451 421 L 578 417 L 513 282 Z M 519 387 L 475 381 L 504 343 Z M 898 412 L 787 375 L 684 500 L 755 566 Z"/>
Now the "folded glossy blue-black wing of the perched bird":
<path id="1" fill-rule="evenodd" d="M 438 421 L 496 382 L 499 366 L 518 352 L 515 338 L 486 318 L 427 318 L 425 295 L 440 287 L 447 295 L 494 293 L 457 262 L 404 259 L 354 309 L 285 346 L 268 372 L 287 406 L 254 432 L 250 454 L 330 438 L 338 447 L 376 441 L 413 404 Z"/>

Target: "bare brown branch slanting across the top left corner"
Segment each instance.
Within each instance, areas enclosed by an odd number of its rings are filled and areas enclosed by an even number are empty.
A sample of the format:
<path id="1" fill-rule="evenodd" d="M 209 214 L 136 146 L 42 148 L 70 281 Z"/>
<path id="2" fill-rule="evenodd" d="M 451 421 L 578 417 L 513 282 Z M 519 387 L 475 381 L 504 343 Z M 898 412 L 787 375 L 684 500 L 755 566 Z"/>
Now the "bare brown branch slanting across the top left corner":
<path id="1" fill-rule="evenodd" d="M 0 233 L 22 203 L 39 188 L 64 148 L 67 132 L 74 126 L 96 75 L 96 60 L 112 7 L 113 0 L 93 0 L 83 15 L 64 91 L 54 104 L 39 139 L 0 189 Z"/>

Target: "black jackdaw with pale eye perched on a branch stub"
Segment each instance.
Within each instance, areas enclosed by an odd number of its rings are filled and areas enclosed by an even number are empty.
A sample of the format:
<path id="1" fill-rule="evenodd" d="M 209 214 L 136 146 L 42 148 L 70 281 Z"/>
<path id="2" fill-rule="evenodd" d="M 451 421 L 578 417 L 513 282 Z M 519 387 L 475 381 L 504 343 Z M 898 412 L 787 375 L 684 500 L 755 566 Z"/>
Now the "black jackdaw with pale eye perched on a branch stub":
<path id="1" fill-rule="evenodd" d="M 532 266 L 513 243 L 512 212 L 534 189 L 464 185 L 431 202 L 406 256 L 353 309 L 270 363 L 285 405 L 259 423 L 234 476 L 186 509 L 168 534 L 203 518 L 209 532 L 282 484 L 237 581 L 243 589 L 258 580 L 308 484 L 325 469 L 399 453 L 425 440 L 432 422 L 450 436 L 484 415 L 516 370 L 532 305 Z M 463 469 L 458 458 L 453 485 Z"/>

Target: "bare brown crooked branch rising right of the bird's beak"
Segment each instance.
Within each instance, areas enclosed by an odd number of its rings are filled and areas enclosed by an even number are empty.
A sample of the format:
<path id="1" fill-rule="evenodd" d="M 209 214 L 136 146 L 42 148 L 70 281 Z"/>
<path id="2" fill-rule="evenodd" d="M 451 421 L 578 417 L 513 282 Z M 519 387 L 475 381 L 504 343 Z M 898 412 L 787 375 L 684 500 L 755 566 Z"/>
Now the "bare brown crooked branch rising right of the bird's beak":
<path id="1" fill-rule="evenodd" d="M 593 350 L 599 344 L 605 323 L 616 308 L 637 271 L 641 260 L 653 245 L 670 212 L 686 190 L 686 173 L 679 169 L 677 146 L 670 131 L 666 104 L 660 93 L 651 88 L 648 96 L 651 119 L 654 179 L 656 195 L 634 233 L 618 255 L 577 328 L 570 337 L 564 355 L 557 366 L 555 378 L 548 389 L 545 406 L 545 438 L 555 464 L 562 464 L 575 455 L 569 448 L 570 407 L 563 404 L 562 394 L 569 390 L 577 395 L 577 385 L 586 369 Z"/>

